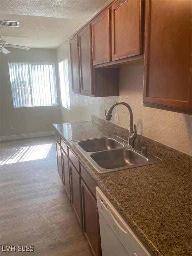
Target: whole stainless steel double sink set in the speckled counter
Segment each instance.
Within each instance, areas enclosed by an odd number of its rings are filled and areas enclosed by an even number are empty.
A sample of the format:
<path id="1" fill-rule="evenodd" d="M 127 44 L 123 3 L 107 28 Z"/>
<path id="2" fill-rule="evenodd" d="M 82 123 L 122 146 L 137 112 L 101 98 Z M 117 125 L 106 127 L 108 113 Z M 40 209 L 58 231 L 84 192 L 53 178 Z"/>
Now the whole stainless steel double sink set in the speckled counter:
<path id="1" fill-rule="evenodd" d="M 127 146 L 118 136 L 74 141 L 75 146 L 99 173 L 160 163 L 163 160 Z"/>

